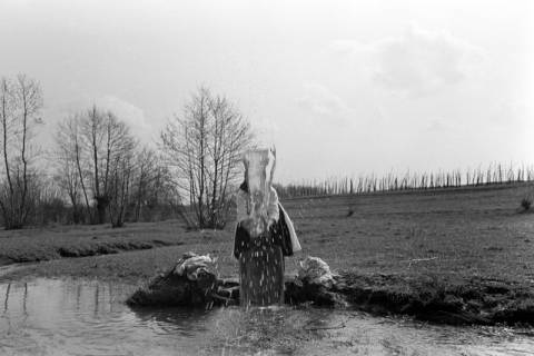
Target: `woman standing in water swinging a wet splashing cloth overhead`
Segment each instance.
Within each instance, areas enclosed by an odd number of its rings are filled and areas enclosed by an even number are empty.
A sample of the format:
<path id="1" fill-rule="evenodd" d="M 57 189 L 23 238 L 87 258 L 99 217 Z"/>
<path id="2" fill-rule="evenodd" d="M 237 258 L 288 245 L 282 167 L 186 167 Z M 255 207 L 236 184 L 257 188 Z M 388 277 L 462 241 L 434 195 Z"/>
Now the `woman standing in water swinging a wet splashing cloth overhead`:
<path id="1" fill-rule="evenodd" d="M 236 197 L 234 256 L 239 259 L 240 303 L 268 306 L 284 303 L 284 256 L 300 250 L 293 224 L 271 186 L 275 152 L 245 155 L 245 180 Z"/>

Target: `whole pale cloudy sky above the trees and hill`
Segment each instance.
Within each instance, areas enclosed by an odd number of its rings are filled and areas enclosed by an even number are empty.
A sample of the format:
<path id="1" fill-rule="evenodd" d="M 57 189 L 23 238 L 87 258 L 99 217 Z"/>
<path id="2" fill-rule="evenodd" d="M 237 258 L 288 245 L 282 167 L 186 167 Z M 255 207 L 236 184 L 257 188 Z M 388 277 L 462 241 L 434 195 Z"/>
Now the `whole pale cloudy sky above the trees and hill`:
<path id="1" fill-rule="evenodd" d="M 92 103 L 155 145 L 206 86 L 283 182 L 531 165 L 531 3 L 0 0 L 0 76 L 40 81 L 44 147 Z"/>

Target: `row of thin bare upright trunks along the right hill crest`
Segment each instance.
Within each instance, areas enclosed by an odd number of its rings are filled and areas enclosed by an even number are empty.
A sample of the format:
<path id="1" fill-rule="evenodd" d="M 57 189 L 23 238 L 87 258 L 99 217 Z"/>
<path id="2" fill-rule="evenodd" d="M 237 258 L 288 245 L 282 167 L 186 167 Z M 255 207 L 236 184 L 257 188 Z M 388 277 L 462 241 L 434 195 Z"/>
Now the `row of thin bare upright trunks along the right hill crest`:
<path id="1" fill-rule="evenodd" d="M 389 172 L 384 176 L 369 175 L 354 177 L 333 177 L 323 180 L 304 180 L 299 184 L 276 185 L 280 198 L 305 196 L 329 196 L 369 194 L 398 190 L 424 190 L 457 188 L 462 186 L 486 186 L 534 180 L 533 166 L 492 164 L 487 168 L 459 169 L 452 171 Z"/>

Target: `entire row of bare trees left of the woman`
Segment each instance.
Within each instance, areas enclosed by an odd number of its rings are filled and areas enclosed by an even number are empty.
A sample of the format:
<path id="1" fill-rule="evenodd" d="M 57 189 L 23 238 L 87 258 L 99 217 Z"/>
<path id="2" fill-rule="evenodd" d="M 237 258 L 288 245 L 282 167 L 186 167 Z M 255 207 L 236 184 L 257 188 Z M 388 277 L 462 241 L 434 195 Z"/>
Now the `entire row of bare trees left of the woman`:
<path id="1" fill-rule="evenodd" d="M 172 216 L 190 227 L 225 226 L 241 152 L 253 139 L 227 98 L 200 88 L 161 130 L 158 148 L 141 145 L 121 118 L 92 106 L 57 126 L 46 155 L 34 140 L 41 108 L 36 80 L 0 80 L 6 229 L 49 221 L 121 227 Z"/>

